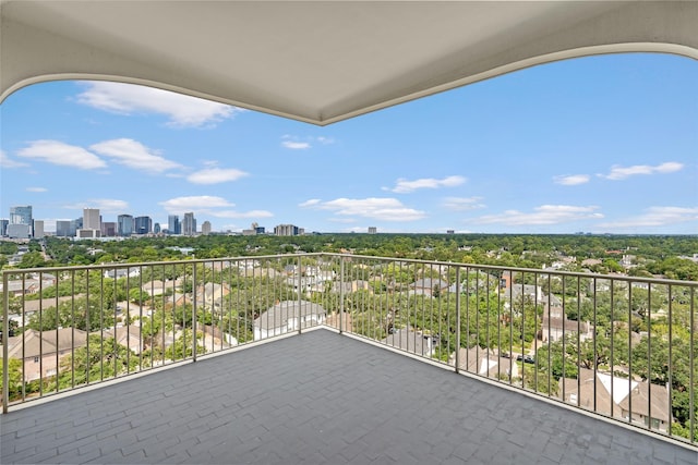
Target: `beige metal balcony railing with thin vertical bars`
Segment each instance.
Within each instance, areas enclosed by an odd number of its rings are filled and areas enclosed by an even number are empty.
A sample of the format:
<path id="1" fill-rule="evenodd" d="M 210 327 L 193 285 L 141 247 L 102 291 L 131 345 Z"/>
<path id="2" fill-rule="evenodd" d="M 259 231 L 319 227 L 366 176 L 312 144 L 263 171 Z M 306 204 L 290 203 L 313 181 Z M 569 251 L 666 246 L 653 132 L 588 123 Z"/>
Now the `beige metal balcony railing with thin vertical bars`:
<path id="1" fill-rule="evenodd" d="M 698 443 L 694 281 L 296 254 L 2 282 L 3 412 L 324 325 Z"/>

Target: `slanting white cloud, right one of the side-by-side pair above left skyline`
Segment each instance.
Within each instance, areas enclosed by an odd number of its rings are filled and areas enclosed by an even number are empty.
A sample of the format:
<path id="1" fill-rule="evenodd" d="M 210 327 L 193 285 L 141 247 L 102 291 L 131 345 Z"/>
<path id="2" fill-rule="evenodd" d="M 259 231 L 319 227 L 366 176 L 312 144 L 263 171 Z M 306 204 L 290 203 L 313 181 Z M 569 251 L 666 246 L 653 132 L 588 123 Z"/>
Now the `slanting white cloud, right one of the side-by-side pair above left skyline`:
<path id="1" fill-rule="evenodd" d="M 183 168 L 181 164 L 168 160 L 158 150 L 151 149 L 137 140 L 120 138 L 105 140 L 89 146 L 99 155 L 111 158 L 116 163 L 134 170 L 161 173 L 163 171 Z"/>

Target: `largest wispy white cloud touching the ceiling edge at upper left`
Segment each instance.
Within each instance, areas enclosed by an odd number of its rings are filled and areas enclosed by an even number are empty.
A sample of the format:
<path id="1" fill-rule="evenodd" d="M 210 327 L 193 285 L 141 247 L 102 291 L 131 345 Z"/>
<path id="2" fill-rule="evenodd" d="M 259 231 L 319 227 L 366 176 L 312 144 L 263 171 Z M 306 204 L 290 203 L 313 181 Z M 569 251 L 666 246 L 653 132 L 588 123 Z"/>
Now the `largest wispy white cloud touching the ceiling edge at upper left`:
<path id="1" fill-rule="evenodd" d="M 80 103 L 120 114 L 159 113 L 174 127 L 214 126 L 244 111 L 237 107 L 133 84 L 89 82 Z"/>

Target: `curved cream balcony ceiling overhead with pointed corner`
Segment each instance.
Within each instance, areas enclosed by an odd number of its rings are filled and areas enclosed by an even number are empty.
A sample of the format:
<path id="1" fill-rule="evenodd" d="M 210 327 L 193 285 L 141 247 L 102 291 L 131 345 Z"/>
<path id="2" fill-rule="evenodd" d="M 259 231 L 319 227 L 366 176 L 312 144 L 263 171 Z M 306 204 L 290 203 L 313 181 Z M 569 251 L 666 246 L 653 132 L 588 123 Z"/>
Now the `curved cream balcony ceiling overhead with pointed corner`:
<path id="1" fill-rule="evenodd" d="M 147 84 L 325 125 L 534 64 L 698 59 L 698 2 L 0 0 L 0 101 Z"/>

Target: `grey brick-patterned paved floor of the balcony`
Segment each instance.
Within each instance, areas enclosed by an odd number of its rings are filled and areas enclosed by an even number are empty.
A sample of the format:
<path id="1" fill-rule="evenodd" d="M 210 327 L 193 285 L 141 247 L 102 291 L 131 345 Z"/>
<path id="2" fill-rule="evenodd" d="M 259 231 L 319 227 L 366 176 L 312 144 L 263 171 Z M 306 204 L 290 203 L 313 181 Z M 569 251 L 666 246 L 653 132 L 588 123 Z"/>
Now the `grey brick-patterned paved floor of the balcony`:
<path id="1" fill-rule="evenodd" d="M 0 428 L 3 464 L 698 463 L 325 329 L 11 411 Z"/>

